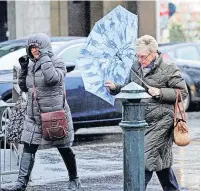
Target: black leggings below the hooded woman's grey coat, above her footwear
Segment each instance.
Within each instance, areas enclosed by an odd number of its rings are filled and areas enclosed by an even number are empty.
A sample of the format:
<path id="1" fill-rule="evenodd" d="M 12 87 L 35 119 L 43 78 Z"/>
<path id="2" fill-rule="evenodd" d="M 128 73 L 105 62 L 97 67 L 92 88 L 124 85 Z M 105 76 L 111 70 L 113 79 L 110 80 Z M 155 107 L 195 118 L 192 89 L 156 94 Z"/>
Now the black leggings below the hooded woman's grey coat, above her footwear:
<path id="1" fill-rule="evenodd" d="M 24 153 L 31 153 L 35 155 L 39 145 L 29 145 L 27 143 L 24 143 Z M 73 153 L 73 150 L 70 147 L 66 148 L 57 148 L 59 153 L 61 154 L 63 161 L 66 165 L 66 168 L 68 170 L 68 175 L 70 180 L 74 180 L 78 178 L 77 176 L 77 165 L 76 165 L 76 159 L 75 154 Z"/>

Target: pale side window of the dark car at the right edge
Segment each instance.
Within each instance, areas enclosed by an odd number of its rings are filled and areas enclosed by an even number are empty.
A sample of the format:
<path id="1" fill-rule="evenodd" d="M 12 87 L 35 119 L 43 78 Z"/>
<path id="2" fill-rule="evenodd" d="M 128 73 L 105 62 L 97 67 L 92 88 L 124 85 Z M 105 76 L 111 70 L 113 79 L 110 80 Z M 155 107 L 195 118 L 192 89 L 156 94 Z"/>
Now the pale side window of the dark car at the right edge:
<path id="1" fill-rule="evenodd" d="M 196 47 L 186 46 L 179 47 L 176 49 L 176 58 L 183 60 L 200 60 L 200 55 Z"/>

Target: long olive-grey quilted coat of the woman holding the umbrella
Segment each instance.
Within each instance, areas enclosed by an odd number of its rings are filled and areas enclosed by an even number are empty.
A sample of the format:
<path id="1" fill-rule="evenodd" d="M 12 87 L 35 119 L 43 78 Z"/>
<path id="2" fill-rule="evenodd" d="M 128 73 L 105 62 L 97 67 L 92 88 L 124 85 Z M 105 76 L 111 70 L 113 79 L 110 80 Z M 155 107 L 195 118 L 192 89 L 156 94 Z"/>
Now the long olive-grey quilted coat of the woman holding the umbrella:
<path id="1" fill-rule="evenodd" d="M 143 77 L 139 63 L 134 63 L 132 69 L 148 85 L 161 89 L 159 99 L 148 99 L 145 120 L 149 127 L 145 130 L 145 168 L 149 171 L 160 171 L 169 168 L 173 163 L 173 120 L 174 103 L 176 100 L 175 89 L 180 89 L 182 97 L 186 98 L 188 91 L 184 79 L 177 66 L 166 61 L 160 55 L 150 72 Z M 134 81 L 143 86 L 139 79 L 131 72 L 129 82 Z M 122 86 L 117 85 L 117 94 Z M 145 87 L 144 87 L 145 88 Z"/>

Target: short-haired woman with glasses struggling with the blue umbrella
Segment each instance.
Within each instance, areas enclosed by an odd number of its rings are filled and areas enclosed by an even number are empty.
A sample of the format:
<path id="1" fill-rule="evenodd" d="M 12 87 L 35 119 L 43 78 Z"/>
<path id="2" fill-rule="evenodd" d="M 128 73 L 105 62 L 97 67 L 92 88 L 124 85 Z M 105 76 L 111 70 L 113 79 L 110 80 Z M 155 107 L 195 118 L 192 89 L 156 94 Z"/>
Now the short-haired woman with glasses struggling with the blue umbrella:
<path id="1" fill-rule="evenodd" d="M 145 130 L 145 189 L 155 171 L 164 191 L 179 190 L 177 179 L 171 168 L 173 164 L 173 122 L 176 89 L 182 93 L 183 99 L 188 95 L 186 83 L 177 66 L 164 60 L 158 52 L 158 43 L 149 35 L 136 41 L 136 57 L 138 62 L 131 68 L 130 80 L 143 86 L 144 84 L 132 72 L 134 71 L 151 86 L 147 91 L 152 96 L 148 99 L 145 120 L 149 127 Z M 105 84 L 111 94 L 116 95 L 122 86 L 111 81 Z"/>

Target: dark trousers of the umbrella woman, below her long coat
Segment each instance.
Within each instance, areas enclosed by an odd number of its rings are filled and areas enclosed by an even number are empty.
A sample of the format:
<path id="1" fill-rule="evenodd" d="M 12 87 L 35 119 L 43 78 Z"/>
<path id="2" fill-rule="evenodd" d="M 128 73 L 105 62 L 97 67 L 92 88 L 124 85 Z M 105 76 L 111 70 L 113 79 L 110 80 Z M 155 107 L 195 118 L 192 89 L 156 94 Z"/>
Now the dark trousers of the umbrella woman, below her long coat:
<path id="1" fill-rule="evenodd" d="M 161 171 L 156 171 L 158 179 L 164 191 L 179 191 L 179 184 L 172 168 L 166 168 Z M 145 170 L 145 190 L 147 184 L 151 180 L 153 171 Z"/>

